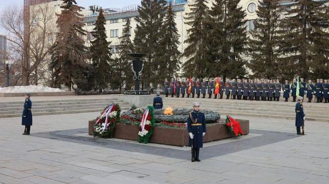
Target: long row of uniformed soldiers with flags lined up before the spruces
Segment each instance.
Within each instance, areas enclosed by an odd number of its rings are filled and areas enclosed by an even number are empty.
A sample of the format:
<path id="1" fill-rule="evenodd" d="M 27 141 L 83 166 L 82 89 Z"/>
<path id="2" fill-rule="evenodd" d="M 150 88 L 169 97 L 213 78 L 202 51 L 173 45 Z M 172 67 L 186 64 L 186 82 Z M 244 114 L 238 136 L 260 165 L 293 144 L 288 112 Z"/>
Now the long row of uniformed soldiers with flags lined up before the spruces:
<path id="1" fill-rule="evenodd" d="M 219 88 L 218 93 L 216 87 Z M 288 101 L 290 95 L 293 97 L 293 102 L 296 102 L 297 93 L 297 81 L 293 79 L 291 83 L 285 81 L 284 84 L 281 84 L 279 80 L 264 80 L 264 79 L 227 79 L 227 82 L 224 82 L 219 79 L 217 84 L 216 79 L 205 79 L 202 80 L 177 80 L 174 79 L 169 82 L 167 79 L 164 83 L 163 92 L 165 92 L 166 97 L 171 94 L 171 97 L 176 95 L 177 98 L 186 97 L 194 98 L 205 98 L 208 94 L 208 98 L 217 97 L 219 99 L 223 98 L 223 95 L 226 95 L 226 99 L 238 99 L 238 100 L 262 100 L 262 101 L 279 101 L 281 92 L 283 92 L 283 98 L 285 101 Z M 308 98 L 308 102 L 312 101 L 313 96 L 316 98 L 316 102 L 329 102 L 329 83 L 328 80 L 317 79 L 316 83 L 313 84 L 312 81 L 308 83 L 304 82 L 304 79 L 301 78 L 299 82 L 299 96 L 304 97 L 305 94 Z M 217 93 L 217 94 L 216 94 Z"/>

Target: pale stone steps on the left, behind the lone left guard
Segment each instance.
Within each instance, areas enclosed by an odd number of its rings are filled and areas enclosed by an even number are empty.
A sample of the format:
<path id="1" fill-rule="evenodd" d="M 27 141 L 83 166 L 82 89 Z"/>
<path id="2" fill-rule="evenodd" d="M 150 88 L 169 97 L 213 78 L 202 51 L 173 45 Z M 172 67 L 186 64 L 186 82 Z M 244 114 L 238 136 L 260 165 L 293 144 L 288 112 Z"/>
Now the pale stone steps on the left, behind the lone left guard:
<path id="1" fill-rule="evenodd" d="M 130 108 L 129 103 L 119 101 L 117 98 L 40 100 L 32 101 L 32 114 L 49 115 L 100 112 L 106 105 L 112 102 L 119 104 L 121 110 L 128 110 Z M 0 102 L 0 118 L 22 116 L 23 103 L 24 101 Z"/>

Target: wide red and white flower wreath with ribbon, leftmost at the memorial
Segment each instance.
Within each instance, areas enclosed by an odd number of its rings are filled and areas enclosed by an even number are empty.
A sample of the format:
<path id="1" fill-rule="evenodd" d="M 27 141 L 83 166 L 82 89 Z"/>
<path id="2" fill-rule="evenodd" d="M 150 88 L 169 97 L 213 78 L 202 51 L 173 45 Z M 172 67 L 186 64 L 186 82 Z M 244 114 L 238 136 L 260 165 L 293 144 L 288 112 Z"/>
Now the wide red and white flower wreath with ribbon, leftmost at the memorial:
<path id="1" fill-rule="evenodd" d="M 112 103 L 104 108 L 94 125 L 94 137 L 111 138 L 115 124 L 120 121 L 120 106 Z"/>

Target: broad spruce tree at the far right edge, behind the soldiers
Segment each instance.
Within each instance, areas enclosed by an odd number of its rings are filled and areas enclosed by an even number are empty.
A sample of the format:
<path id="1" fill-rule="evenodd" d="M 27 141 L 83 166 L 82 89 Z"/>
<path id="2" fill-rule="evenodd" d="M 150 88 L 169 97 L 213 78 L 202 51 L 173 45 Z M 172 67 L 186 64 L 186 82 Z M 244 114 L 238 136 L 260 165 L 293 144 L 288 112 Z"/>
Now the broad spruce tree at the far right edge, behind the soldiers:
<path id="1" fill-rule="evenodd" d="M 327 74 L 327 9 L 322 1 L 299 0 L 287 11 L 281 24 L 284 78 Z"/>

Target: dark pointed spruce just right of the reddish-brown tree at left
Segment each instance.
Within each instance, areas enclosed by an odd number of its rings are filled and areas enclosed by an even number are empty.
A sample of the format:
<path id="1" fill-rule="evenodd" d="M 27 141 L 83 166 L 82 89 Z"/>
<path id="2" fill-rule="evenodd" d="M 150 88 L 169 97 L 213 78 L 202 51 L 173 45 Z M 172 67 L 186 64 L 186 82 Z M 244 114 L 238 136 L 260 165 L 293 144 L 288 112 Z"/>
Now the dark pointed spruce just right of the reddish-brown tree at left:
<path id="1" fill-rule="evenodd" d="M 106 20 L 103 14 L 103 9 L 100 9 L 97 21 L 95 22 L 95 28 L 91 32 L 95 38 L 91 41 L 91 61 L 92 61 L 92 76 L 95 81 L 95 89 L 100 90 L 108 87 L 108 83 L 111 81 L 111 59 L 110 43 L 106 40 Z"/>

